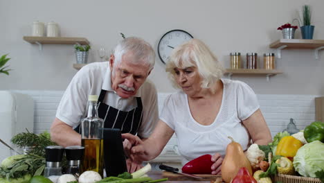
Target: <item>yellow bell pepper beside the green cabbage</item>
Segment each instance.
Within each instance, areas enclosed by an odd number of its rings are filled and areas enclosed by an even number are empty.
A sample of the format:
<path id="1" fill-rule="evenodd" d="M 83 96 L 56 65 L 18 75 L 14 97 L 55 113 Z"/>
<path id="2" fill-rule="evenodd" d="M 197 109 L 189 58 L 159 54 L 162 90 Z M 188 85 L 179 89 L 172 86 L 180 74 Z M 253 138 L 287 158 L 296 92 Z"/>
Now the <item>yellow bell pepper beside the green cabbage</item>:
<path id="1" fill-rule="evenodd" d="M 295 137 L 283 137 L 278 143 L 276 155 L 280 155 L 283 157 L 294 157 L 297 153 L 297 150 L 301 146 L 303 146 L 303 142 L 296 139 Z"/>

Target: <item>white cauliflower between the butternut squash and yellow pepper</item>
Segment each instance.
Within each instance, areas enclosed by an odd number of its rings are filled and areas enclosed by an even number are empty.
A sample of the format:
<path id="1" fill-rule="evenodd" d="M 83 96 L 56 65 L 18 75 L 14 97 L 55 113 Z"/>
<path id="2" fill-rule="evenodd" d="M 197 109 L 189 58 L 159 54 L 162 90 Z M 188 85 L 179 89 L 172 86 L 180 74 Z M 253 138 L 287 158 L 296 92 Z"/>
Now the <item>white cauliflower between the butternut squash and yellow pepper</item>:
<path id="1" fill-rule="evenodd" d="M 246 157 L 249 159 L 253 169 L 258 169 L 260 162 L 264 159 L 265 154 L 260 150 L 258 144 L 253 143 L 246 151 Z"/>

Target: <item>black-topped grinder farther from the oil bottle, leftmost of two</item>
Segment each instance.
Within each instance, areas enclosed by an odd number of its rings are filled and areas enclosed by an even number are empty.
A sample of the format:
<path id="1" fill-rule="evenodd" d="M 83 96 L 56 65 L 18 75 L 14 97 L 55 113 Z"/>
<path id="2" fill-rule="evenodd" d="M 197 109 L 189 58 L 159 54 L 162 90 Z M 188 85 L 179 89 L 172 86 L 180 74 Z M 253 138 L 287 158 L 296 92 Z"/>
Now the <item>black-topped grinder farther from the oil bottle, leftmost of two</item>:
<path id="1" fill-rule="evenodd" d="M 46 152 L 46 167 L 44 169 L 44 177 L 51 175 L 62 175 L 62 157 L 64 148 L 62 146 L 47 146 Z"/>

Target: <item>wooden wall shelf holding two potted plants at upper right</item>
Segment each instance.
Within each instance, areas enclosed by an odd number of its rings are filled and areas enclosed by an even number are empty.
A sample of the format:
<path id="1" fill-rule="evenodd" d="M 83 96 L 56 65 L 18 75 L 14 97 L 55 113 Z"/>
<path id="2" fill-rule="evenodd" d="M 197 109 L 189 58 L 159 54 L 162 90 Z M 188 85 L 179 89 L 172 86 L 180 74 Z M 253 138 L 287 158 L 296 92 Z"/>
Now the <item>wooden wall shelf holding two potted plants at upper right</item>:
<path id="1" fill-rule="evenodd" d="M 269 47 L 277 49 L 278 58 L 281 58 L 282 49 L 314 49 L 315 58 L 318 59 L 318 51 L 324 49 L 324 40 L 280 39 L 271 43 Z"/>

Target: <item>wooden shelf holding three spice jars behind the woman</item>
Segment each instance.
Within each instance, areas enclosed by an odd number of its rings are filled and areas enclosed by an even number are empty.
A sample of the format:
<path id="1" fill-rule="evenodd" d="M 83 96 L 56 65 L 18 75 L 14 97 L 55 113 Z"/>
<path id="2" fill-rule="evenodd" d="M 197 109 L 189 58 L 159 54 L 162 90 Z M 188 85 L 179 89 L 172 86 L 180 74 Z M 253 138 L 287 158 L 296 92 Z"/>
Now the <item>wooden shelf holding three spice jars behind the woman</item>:
<path id="1" fill-rule="evenodd" d="M 244 74 L 244 75 L 264 75 L 267 76 L 269 81 L 270 76 L 280 74 L 282 71 L 276 69 L 226 69 L 225 74 L 228 74 L 228 78 L 231 78 L 233 74 Z"/>

